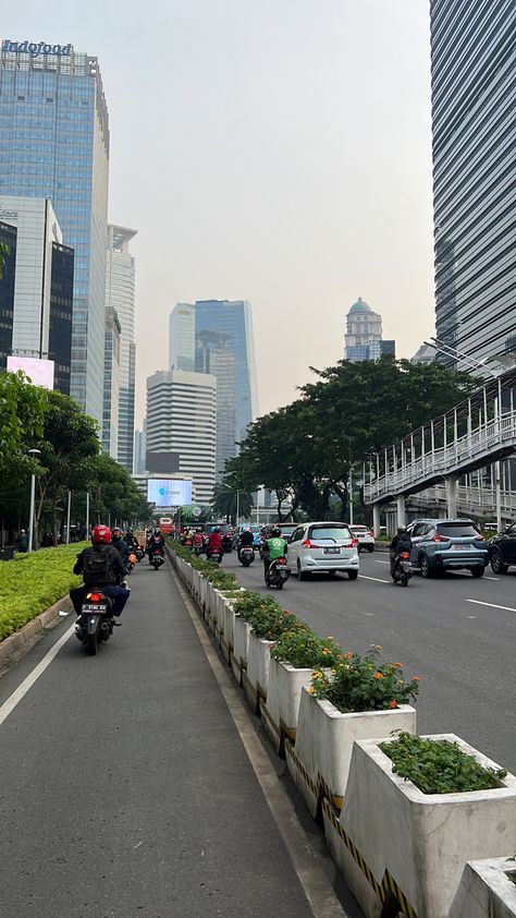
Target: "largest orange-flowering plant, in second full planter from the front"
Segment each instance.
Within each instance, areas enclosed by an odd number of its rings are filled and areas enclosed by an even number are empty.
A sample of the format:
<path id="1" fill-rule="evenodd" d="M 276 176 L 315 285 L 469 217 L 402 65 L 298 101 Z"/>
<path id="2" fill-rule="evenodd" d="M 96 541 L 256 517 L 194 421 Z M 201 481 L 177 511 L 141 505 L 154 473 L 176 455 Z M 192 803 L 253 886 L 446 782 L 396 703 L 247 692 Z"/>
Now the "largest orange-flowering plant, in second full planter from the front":
<path id="1" fill-rule="evenodd" d="M 310 694 L 325 698 L 343 714 L 386 711 L 415 700 L 419 679 L 405 681 L 401 663 L 380 663 L 381 648 L 373 644 L 360 656 L 349 651 L 341 656 L 330 676 L 320 669 L 312 675 Z"/>

